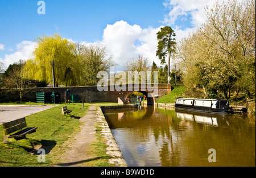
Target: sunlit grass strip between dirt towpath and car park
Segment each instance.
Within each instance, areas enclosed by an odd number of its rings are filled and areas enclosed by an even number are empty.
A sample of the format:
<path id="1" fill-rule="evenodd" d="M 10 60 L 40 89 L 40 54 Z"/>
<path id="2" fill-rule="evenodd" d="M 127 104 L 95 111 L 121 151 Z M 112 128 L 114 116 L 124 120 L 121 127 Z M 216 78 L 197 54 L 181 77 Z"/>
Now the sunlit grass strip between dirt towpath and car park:
<path id="1" fill-rule="evenodd" d="M 61 107 L 53 107 L 40 113 L 26 117 L 28 127 L 36 126 L 36 133 L 28 134 L 26 139 L 13 143 L 2 143 L 3 127 L 0 126 L 0 166 L 52 166 L 56 162 L 56 155 L 64 153 L 66 148 L 61 145 L 80 130 L 79 119 L 88 110 L 89 105 L 70 104 L 69 115 L 61 114 Z M 39 163 L 38 155 L 32 154 L 35 146 L 43 146 L 46 150 L 46 162 Z M 51 152 L 50 152 L 51 151 Z"/>

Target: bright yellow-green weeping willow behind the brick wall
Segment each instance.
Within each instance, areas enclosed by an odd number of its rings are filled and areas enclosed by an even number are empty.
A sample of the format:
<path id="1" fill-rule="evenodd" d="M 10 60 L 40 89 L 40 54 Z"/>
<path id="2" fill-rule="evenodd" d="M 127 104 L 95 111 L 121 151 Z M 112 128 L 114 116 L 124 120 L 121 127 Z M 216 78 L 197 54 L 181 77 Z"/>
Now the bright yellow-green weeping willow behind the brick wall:
<path id="1" fill-rule="evenodd" d="M 80 85 L 80 58 L 76 55 L 75 44 L 59 34 L 39 37 L 36 42 L 34 58 L 29 59 L 26 65 L 31 79 L 52 82 L 53 62 L 56 86 Z"/>

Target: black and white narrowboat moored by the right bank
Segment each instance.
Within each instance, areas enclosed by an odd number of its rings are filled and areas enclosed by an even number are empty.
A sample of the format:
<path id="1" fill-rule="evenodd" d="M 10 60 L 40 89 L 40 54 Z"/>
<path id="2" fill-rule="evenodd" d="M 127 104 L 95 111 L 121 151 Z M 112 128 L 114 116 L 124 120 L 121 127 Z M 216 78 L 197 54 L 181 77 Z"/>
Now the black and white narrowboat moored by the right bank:
<path id="1" fill-rule="evenodd" d="M 175 109 L 226 114 L 229 113 L 229 102 L 221 99 L 177 98 Z"/>

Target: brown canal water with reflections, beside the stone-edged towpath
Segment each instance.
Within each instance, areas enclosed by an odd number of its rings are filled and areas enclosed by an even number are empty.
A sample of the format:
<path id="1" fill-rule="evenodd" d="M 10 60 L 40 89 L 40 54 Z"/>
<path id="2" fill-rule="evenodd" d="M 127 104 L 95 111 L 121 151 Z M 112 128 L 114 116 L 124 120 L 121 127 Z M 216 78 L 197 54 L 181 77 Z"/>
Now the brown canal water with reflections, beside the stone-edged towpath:
<path id="1" fill-rule="evenodd" d="M 105 110 L 129 166 L 255 166 L 255 115 Z"/>

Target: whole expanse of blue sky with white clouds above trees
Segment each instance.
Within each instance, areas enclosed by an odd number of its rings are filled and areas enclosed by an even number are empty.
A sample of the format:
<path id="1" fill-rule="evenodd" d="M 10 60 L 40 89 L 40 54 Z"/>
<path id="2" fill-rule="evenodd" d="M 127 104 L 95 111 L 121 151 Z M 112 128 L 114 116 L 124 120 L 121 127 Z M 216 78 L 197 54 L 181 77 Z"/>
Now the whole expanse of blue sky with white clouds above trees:
<path id="1" fill-rule="evenodd" d="M 39 15 L 37 0 L 0 0 L 0 61 L 7 66 L 32 57 L 36 37 L 55 33 L 73 42 L 106 45 L 120 67 L 123 61 L 138 55 L 158 63 L 156 32 L 160 27 L 171 26 L 176 31 L 176 38 L 181 39 L 200 26 L 204 19 L 202 9 L 213 1 L 44 2 L 46 14 Z"/>

